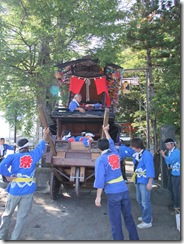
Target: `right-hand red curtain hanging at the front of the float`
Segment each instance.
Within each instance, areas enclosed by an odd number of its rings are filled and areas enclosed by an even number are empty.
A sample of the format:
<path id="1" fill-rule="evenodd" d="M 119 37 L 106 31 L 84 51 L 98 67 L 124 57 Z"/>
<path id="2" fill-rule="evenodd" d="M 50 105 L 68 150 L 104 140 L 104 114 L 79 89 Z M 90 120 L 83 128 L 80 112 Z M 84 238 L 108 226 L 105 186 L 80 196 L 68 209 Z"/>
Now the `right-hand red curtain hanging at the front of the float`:
<path id="1" fill-rule="evenodd" d="M 108 89 L 107 89 L 107 81 L 105 77 L 100 77 L 100 78 L 95 78 L 95 84 L 96 84 L 96 90 L 97 90 L 97 94 L 101 94 L 102 92 L 105 92 L 106 94 L 106 105 L 110 106 L 111 105 L 111 100 L 110 100 L 110 96 L 108 93 Z"/>

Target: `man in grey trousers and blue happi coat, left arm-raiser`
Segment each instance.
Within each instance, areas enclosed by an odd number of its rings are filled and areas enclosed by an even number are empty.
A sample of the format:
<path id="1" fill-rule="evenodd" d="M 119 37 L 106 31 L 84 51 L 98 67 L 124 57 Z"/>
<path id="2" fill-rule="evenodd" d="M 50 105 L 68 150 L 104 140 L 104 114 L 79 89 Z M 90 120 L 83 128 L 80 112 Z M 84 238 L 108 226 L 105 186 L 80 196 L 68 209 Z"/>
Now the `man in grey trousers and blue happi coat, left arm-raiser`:
<path id="1" fill-rule="evenodd" d="M 10 154 L 0 164 L 0 174 L 10 182 L 7 187 L 8 197 L 5 210 L 1 216 L 0 240 L 7 240 L 11 218 L 17 208 L 16 225 L 10 240 L 18 240 L 26 217 L 31 210 L 33 193 L 36 189 L 34 172 L 36 163 L 41 159 L 46 149 L 46 138 L 49 128 L 44 128 L 43 138 L 32 151 L 29 151 L 29 141 L 24 138 L 18 141 L 19 153 Z"/>

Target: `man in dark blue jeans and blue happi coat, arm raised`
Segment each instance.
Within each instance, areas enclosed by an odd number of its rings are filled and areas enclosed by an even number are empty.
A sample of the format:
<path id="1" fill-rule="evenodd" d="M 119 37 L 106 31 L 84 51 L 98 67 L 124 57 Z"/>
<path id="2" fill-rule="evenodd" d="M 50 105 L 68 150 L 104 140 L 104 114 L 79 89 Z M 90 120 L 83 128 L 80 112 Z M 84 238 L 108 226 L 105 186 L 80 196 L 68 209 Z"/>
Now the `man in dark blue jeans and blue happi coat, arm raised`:
<path id="1" fill-rule="evenodd" d="M 101 206 L 101 194 L 104 189 L 107 196 L 107 209 L 113 240 L 124 240 L 122 214 L 129 239 L 139 240 L 131 214 L 128 187 L 121 173 L 120 157 L 108 130 L 109 125 L 106 127 L 103 126 L 106 139 L 98 140 L 98 148 L 101 151 L 101 156 L 95 162 L 94 187 L 97 188 L 95 205 L 97 207 Z"/>

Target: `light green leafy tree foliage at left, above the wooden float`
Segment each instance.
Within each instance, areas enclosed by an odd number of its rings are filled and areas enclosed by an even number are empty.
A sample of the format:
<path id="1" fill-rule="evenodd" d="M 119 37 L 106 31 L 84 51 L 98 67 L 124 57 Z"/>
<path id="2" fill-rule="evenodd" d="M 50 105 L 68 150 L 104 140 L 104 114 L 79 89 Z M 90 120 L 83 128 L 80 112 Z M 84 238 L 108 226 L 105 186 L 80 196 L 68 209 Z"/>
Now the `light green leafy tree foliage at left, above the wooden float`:
<path id="1" fill-rule="evenodd" d="M 32 94 L 34 105 L 31 110 L 27 106 L 27 112 L 24 111 L 24 121 L 30 125 L 28 131 L 31 131 L 32 114 L 37 114 L 36 105 L 46 104 L 48 99 L 52 104 L 57 101 L 49 92 L 55 84 L 54 64 L 94 53 L 95 47 L 89 46 L 93 38 L 99 38 L 101 47 L 108 50 L 108 53 L 96 51 L 101 64 L 115 57 L 114 47 L 110 45 L 120 15 L 117 5 L 116 0 L 2 1 L 2 104 L 13 106 L 20 98 L 16 97 L 17 89 L 22 92 L 26 89 Z M 9 116 L 7 119 L 11 124 Z"/>

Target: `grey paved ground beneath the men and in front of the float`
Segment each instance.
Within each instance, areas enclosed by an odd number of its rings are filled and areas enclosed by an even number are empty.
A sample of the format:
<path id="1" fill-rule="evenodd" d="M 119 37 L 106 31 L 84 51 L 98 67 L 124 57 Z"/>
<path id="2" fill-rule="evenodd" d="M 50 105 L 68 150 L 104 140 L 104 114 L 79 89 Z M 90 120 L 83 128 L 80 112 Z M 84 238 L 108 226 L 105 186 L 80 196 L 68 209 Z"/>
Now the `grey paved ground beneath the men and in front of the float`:
<path id="1" fill-rule="evenodd" d="M 128 168 L 128 167 L 127 167 Z M 131 167 L 130 167 L 131 172 Z M 135 186 L 128 175 L 132 212 L 136 224 L 139 223 L 139 208 L 135 199 Z M 5 185 L 0 182 L 0 215 L 6 201 Z M 28 215 L 21 240 L 62 240 L 62 241 L 97 241 L 112 240 L 106 209 L 105 194 L 102 207 L 94 205 L 96 191 L 84 189 L 79 197 L 73 189 L 62 189 L 57 201 L 50 198 L 48 189 L 35 192 L 34 204 Z M 152 190 L 153 226 L 138 229 L 142 241 L 179 241 L 180 232 L 176 228 L 174 212 L 167 208 L 169 192 L 160 187 L 157 181 Z M 15 224 L 15 215 L 10 225 L 10 232 Z M 128 240 L 123 223 L 125 240 Z"/>

